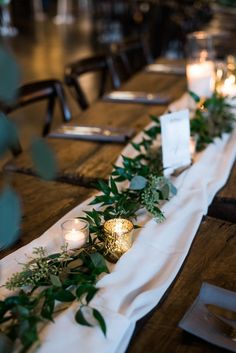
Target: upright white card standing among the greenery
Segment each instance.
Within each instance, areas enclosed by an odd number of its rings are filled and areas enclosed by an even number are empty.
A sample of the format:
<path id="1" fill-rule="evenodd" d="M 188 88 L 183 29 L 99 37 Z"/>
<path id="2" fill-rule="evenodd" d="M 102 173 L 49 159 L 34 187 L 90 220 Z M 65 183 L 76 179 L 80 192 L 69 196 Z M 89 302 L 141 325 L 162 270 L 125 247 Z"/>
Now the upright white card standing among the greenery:
<path id="1" fill-rule="evenodd" d="M 162 115 L 160 120 L 164 175 L 168 176 L 191 163 L 189 110 Z"/>

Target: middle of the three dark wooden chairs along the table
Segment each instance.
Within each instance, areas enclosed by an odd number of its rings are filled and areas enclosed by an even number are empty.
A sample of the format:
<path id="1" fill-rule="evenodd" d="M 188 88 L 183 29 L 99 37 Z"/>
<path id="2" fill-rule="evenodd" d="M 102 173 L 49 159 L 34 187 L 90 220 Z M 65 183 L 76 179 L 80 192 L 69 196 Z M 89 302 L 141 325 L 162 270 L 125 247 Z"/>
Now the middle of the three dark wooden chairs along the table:
<path id="1" fill-rule="evenodd" d="M 79 79 L 82 75 L 88 73 L 101 74 L 98 98 L 101 98 L 106 91 L 108 77 L 111 80 L 112 88 L 117 89 L 121 84 L 112 56 L 94 55 L 68 64 L 65 68 L 65 83 L 72 89 L 72 94 L 82 110 L 89 107 L 89 102 Z"/>

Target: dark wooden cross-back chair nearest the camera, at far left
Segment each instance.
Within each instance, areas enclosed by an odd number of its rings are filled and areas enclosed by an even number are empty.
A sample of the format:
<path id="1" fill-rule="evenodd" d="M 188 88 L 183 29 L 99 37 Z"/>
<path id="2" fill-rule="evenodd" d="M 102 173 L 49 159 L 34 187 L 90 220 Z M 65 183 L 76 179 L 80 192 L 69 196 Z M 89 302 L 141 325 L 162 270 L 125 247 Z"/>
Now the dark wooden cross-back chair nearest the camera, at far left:
<path id="1" fill-rule="evenodd" d="M 71 120 L 71 112 L 67 105 L 65 92 L 61 81 L 50 79 L 24 84 L 19 88 L 19 95 L 16 103 L 12 106 L 5 107 L 4 111 L 6 114 L 8 114 L 15 111 L 16 109 L 41 100 L 48 101 L 41 134 L 44 137 L 50 132 L 56 101 L 59 102 L 63 122 L 69 122 Z M 16 144 L 12 148 L 12 153 L 14 156 L 21 153 L 21 151 L 22 149 L 20 143 Z"/>

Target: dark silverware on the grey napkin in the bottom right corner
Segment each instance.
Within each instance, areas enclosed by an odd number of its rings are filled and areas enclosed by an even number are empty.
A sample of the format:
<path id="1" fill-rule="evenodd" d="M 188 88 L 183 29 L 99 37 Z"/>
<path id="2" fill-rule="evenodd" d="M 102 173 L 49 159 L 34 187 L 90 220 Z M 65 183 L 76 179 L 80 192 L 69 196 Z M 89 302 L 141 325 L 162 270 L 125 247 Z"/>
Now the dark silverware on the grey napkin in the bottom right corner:
<path id="1" fill-rule="evenodd" d="M 217 331 L 222 333 L 224 336 L 230 338 L 232 341 L 236 341 L 236 327 L 221 319 L 216 314 L 208 311 L 205 319 L 208 323 L 215 328 Z"/>

